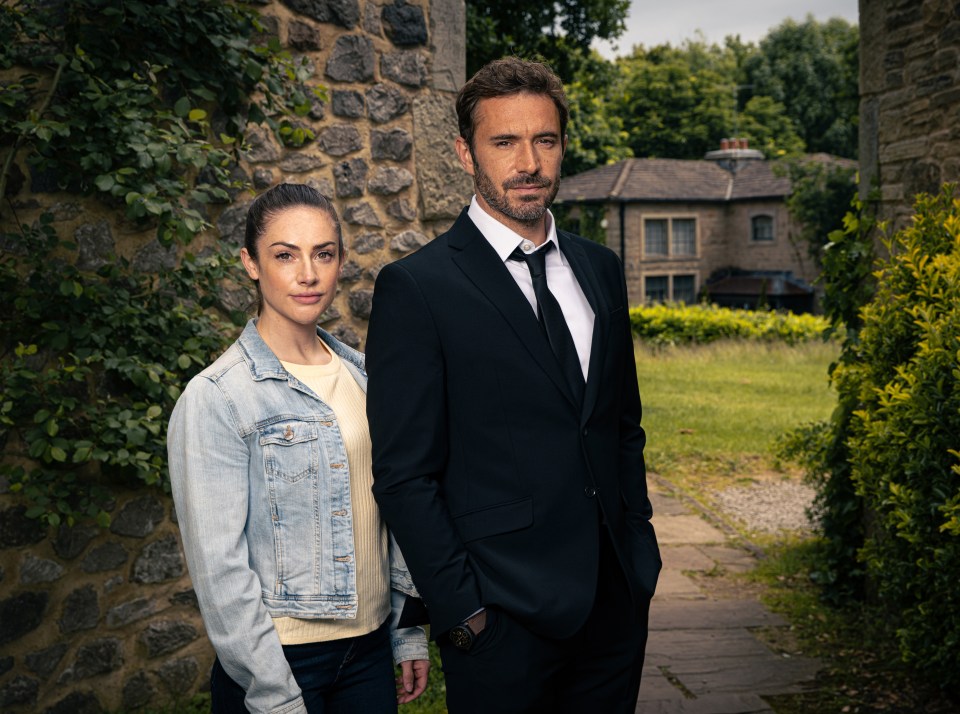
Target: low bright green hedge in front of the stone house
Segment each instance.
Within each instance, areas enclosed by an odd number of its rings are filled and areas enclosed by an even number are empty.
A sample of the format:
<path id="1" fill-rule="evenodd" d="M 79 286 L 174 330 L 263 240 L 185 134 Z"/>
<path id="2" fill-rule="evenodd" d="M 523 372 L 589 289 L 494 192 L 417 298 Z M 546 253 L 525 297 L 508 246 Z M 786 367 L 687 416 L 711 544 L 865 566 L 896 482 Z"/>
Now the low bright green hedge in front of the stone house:
<path id="1" fill-rule="evenodd" d="M 658 304 L 630 310 L 633 332 L 656 344 L 690 344 L 720 339 L 782 341 L 823 339 L 827 321 L 817 315 L 733 310 L 716 305 Z"/>

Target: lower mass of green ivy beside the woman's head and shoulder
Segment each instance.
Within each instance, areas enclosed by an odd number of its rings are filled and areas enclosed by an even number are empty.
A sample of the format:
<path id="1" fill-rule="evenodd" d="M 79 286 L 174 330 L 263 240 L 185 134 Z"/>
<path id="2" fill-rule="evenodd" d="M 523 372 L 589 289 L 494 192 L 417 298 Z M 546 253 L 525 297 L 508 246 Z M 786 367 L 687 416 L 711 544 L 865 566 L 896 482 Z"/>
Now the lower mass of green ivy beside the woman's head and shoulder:
<path id="1" fill-rule="evenodd" d="M 0 254 L 0 474 L 29 516 L 106 526 L 116 479 L 166 485 L 167 420 L 235 332 L 210 308 L 239 268 L 214 251 L 158 276 L 123 259 L 83 272 L 48 215 L 2 238 L 16 247 Z"/>

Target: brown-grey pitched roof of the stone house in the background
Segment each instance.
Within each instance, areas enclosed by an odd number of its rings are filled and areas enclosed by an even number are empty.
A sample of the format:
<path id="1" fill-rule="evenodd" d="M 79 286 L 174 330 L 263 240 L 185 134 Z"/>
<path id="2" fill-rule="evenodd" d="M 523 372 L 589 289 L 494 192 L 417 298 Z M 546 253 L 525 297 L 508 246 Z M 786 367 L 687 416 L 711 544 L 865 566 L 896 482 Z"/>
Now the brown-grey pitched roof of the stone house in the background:
<path id="1" fill-rule="evenodd" d="M 714 203 L 782 199 L 789 193 L 789 179 L 774 175 L 768 161 L 741 161 L 731 172 L 716 161 L 624 159 L 564 178 L 557 200 Z"/>

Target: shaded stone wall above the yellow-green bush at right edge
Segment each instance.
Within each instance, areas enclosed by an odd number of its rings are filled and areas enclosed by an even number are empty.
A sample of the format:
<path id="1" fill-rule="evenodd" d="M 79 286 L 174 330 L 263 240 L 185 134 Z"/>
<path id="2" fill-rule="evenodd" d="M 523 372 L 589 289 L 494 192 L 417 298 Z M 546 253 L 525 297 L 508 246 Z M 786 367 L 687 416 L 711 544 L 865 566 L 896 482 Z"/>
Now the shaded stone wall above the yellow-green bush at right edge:
<path id="1" fill-rule="evenodd" d="M 914 196 L 960 178 L 960 5 L 860 0 L 860 191 L 904 225 Z"/>

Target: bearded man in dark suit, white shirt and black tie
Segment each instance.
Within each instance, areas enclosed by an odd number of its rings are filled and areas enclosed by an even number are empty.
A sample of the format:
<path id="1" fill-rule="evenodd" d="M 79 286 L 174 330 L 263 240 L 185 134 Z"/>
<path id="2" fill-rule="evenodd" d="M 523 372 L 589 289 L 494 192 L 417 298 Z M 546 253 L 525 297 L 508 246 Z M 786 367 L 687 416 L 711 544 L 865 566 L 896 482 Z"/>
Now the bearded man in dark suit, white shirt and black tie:
<path id="1" fill-rule="evenodd" d="M 374 495 L 463 712 L 633 712 L 660 558 L 623 270 L 557 230 L 568 117 L 544 65 L 460 91 L 476 195 L 380 272 Z"/>

